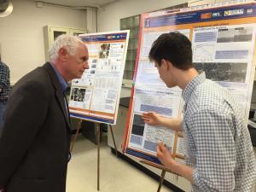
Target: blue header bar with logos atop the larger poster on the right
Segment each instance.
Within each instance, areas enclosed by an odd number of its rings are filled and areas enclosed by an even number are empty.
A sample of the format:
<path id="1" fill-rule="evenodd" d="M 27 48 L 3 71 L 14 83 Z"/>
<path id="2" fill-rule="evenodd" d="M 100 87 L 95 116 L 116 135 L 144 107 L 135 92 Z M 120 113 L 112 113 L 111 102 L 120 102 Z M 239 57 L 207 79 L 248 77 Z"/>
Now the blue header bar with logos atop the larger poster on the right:
<path id="1" fill-rule="evenodd" d="M 231 20 L 256 16 L 256 4 L 236 5 L 225 8 L 195 10 L 174 15 L 162 15 L 145 19 L 144 27 L 162 27 L 212 20 Z"/>

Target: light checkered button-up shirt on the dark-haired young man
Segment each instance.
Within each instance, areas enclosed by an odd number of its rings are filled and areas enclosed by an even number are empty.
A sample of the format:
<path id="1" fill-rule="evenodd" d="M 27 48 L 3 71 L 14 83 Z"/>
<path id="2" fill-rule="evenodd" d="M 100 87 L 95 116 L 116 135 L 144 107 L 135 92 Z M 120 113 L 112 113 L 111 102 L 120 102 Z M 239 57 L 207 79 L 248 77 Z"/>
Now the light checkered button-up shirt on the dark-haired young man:
<path id="1" fill-rule="evenodd" d="M 206 79 L 183 90 L 183 134 L 194 192 L 253 192 L 256 159 L 243 113 L 230 91 Z"/>

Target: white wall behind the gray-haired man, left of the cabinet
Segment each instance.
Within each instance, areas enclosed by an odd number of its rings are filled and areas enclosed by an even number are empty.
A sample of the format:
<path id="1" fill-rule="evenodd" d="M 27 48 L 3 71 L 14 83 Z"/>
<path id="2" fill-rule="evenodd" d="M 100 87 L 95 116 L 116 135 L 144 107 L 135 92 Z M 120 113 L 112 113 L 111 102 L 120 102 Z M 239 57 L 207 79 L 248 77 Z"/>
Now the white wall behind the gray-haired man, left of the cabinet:
<path id="1" fill-rule="evenodd" d="M 14 11 L 0 18 L 2 60 L 10 67 L 11 83 L 44 64 L 43 26 L 86 28 L 83 10 L 44 6 L 33 0 L 12 0 Z"/>

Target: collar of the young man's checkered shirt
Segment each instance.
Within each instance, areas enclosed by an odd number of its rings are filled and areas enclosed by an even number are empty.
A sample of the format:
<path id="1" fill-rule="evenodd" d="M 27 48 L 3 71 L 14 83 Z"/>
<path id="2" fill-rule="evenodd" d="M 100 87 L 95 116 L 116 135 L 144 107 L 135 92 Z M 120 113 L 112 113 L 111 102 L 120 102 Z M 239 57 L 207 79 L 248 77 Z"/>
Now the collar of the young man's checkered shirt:
<path id="1" fill-rule="evenodd" d="M 197 75 L 194 79 L 192 79 L 189 84 L 187 84 L 187 86 L 185 87 L 185 89 L 183 90 L 183 100 L 185 103 L 187 103 L 189 101 L 189 96 L 191 95 L 191 93 L 193 92 L 193 90 L 195 90 L 195 87 L 198 84 L 203 83 L 206 80 L 206 73 L 201 73 L 199 75 Z"/>

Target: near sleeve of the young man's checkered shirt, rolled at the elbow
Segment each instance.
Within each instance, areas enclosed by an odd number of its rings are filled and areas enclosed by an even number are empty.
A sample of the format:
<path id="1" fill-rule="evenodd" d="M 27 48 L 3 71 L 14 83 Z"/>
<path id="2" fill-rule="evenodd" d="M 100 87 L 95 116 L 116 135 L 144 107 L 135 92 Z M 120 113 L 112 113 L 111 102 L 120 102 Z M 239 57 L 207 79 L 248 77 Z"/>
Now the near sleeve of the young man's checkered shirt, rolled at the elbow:
<path id="1" fill-rule="evenodd" d="M 189 129 L 196 148 L 194 184 L 201 191 L 233 191 L 236 146 L 230 114 L 199 111 L 192 115 Z"/>

